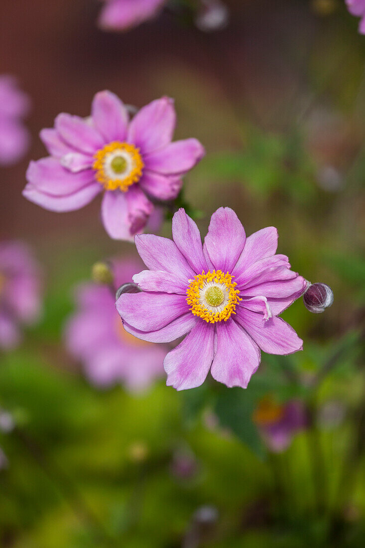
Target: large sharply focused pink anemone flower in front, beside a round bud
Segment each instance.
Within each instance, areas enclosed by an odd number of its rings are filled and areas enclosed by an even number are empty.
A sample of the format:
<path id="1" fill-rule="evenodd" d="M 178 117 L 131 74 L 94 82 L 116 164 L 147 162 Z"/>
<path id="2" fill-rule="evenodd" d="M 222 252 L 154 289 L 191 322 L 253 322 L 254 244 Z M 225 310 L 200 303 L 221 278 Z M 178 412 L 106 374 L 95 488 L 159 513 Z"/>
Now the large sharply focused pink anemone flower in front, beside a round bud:
<path id="1" fill-rule="evenodd" d="M 209 372 L 227 386 L 246 388 L 260 349 L 290 354 L 303 341 L 277 315 L 298 298 L 306 281 L 276 255 L 277 230 L 246 238 L 236 213 L 219 208 L 202 246 L 195 222 L 175 213 L 173 241 L 135 237 L 147 268 L 133 276 L 144 291 L 121 295 L 117 310 L 136 337 L 167 343 L 186 338 L 164 359 L 167 384 L 178 390 L 203 383 Z"/>

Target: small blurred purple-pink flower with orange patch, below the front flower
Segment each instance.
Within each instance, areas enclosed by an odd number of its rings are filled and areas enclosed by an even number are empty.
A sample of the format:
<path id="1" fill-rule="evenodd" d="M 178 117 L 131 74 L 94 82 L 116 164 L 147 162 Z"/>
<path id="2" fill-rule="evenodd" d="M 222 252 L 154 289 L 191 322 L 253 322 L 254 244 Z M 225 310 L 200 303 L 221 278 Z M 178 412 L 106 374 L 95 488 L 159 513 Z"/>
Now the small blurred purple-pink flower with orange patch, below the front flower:
<path id="1" fill-rule="evenodd" d="M 270 398 L 264 398 L 255 410 L 253 420 L 274 453 L 286 450 L 293 436 L 308 425 L 304 404 L 297 400 L 280 405 Z"/>

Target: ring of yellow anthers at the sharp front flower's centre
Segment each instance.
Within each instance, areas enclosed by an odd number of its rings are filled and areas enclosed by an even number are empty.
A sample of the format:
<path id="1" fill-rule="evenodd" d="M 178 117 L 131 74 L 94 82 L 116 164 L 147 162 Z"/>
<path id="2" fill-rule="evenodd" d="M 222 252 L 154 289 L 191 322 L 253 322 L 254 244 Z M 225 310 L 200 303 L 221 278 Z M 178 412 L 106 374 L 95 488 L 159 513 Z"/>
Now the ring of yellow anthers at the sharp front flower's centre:
<path id="1" fill-rule="evenodd" d="M 232 282 L 233 276 L 228 272 L 213 270 L 207 273 L 204 271 L 195 276 L 186 290 L 187 304 L 191 305 L 191 312 L 208 323 L 227 321 L 231 314 L 235 314 L 236 304 L 242 299 L 239 298 L 239 290 L 235 289 L 237 284 Z M 204 292 L 207 295 L 213 289 L 210 298 L 204 299 Z M 222 299 L 217 301 L 218 292 Z M 210 302 L 208 302 L 208 300 Z M 225 302 L 226 301 L 226 302 Z M 224 305 L 224 306 L 222 306 Z"/>

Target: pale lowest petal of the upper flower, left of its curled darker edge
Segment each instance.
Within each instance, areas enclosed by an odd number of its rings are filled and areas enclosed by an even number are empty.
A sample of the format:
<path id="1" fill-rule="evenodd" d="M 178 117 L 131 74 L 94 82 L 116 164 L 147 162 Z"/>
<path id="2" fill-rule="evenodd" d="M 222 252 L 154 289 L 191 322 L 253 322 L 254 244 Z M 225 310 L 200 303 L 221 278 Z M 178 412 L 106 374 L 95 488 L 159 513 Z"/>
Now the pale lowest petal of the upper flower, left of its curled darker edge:
<path id="1" fill-rule="evenodd" d="M 125 192 L 119 190 L 105 192 L 101 202 L 101 219 L 111 238 L 133 241 Z"/>

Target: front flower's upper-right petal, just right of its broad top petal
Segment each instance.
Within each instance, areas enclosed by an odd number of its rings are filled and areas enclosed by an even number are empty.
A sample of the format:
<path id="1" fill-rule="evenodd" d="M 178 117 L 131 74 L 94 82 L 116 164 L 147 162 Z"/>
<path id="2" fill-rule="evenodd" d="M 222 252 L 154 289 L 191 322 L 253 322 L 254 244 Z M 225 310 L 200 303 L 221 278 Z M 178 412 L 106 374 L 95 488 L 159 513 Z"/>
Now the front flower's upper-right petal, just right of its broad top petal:
<path id="1" fill-rule="evenodd" d="M 278 233 L 275 227 L 258 230 L 246 239 L 243 252 L 239 257 L 233 275 L 238 277 L 254 262 L 275 255 Z"/>

